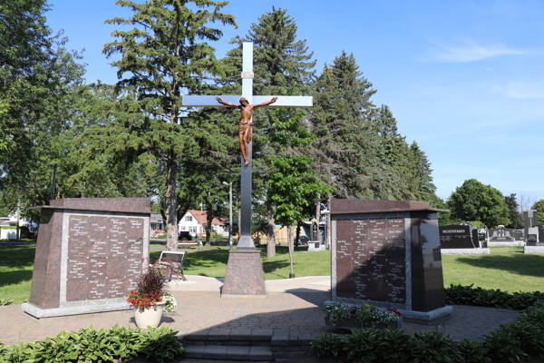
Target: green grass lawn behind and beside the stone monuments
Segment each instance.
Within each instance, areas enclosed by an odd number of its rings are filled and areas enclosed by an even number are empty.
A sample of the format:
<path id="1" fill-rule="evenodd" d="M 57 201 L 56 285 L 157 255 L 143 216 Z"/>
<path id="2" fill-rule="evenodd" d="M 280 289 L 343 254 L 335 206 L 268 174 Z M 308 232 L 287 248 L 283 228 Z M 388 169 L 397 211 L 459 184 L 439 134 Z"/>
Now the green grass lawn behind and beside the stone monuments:
<path id="1" fill-rule="evenodd" d="M 289 277 L 287 247 L 277 247 L 277 256 L 268 259 L 266 248 L 259 248 L 267 280 Z M 35 246 L 0 247 L 0 299 L 14 299 L 18 304 L 28 299 Z M 160 250 L 151 251 L 151 260 Z M 330 252 L 295 252 L 295 275 L 326 276 L 330 274 Z M 224 278 L 228 261 L 228 247 L 205 246 L 205 250 L 191 250 L 185 259 L 188 275 Z M 491 255 L 443 256 L 444 286 L 471 285 L 484 289 L 514 291 L 544 290 L 544 256 L 523 254 L 521 247 L 491 248 Z"/>

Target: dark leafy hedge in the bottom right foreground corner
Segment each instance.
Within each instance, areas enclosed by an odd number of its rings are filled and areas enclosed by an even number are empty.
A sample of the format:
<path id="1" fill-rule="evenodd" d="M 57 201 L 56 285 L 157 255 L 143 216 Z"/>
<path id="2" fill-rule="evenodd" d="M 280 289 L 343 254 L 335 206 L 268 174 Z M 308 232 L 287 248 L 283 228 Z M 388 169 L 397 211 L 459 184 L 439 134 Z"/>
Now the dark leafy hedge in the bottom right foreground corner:
<path id="1" fill-rule="evenodd" d="M 359 362 L 521 362 L 544 358 L 544 302 L 527 309 L 520 320 L 504 324 L 485 336 L 483 342 L 454 340 L 451 335 L 431 332 L 409 336 L 403 330 L 353 329 L 343 338 L 322 334 L 312 342 L 317 356 Z"/>

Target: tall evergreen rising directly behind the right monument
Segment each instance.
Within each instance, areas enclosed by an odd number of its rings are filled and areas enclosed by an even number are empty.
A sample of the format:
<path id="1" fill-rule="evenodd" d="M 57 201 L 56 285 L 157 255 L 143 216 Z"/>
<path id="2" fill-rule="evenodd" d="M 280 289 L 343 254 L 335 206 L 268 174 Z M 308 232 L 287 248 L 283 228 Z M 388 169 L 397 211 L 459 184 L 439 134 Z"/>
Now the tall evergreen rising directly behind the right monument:
<path id="1" fill-rule="evenodd" d="M 325 64 L 316 83 L 315 107 L 309 117 L 317 136 L 316 154 L 333 165 L 329 179 L 342 184 L 338 190 L 344 191 L 344 197 L 384 197 L 379 181 L 380 143 L 371 123 L 374 93 L 355 56 L 345 52 L 331 66 Z"/>

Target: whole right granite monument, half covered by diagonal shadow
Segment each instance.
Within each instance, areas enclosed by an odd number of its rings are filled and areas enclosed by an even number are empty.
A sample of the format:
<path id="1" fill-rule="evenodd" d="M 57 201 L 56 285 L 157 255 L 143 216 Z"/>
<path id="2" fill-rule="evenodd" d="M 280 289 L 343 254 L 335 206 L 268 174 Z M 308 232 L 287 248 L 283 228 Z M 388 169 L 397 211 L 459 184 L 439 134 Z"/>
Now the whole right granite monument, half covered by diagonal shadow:
<path id="1" fill-rule="evenodd" d="M 438 211 L 421 201 L 333 200 L 331 299 L 431 321 L 445 306 Z"/>

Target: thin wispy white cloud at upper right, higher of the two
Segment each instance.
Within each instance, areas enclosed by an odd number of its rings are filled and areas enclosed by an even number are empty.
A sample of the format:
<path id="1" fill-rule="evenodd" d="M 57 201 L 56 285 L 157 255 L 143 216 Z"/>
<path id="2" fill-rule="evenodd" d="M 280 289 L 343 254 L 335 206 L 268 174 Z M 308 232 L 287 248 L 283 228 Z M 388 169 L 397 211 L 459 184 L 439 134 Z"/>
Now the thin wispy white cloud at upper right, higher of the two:
<path id="1" fill-rule="evenodd" d="M 436 44 L 438 49 L 430 50 L 427 61 L 439 62 L 476 62 L 484 59 L 511 54 L 530 54 L 532 51 L 509 48 L 503 44 L 479 45 L 474 42 L 466 42 L 462 46 L 450 46 Z"/>

